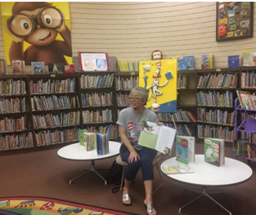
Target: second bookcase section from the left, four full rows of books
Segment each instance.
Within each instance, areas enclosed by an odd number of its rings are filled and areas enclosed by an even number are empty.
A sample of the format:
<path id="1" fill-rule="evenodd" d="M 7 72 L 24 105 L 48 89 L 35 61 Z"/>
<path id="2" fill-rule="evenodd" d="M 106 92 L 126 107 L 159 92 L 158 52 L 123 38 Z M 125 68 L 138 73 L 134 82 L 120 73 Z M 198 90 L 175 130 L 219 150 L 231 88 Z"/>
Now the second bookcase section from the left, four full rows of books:
<path id="1" fill-rule="evenodd" d="M 29 75 L 37 147 L 78 141 L 81 114 L 78 75 Z"/>

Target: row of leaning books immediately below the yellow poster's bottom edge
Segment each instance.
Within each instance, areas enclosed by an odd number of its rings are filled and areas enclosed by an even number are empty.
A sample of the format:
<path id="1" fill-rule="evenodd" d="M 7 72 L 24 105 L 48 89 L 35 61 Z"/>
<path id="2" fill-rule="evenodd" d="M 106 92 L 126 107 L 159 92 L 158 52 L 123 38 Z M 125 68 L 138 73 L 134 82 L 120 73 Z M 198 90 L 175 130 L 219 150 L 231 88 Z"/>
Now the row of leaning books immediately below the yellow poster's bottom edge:
<path id="1" fill-rule="evenodd" d="M 182 109 L 177 109 L 174 113 L 157 113 L 159 121 L 185 121 L 185 122 L 196 122 L 195 113 L 191 111 L 183 111 Z"/>

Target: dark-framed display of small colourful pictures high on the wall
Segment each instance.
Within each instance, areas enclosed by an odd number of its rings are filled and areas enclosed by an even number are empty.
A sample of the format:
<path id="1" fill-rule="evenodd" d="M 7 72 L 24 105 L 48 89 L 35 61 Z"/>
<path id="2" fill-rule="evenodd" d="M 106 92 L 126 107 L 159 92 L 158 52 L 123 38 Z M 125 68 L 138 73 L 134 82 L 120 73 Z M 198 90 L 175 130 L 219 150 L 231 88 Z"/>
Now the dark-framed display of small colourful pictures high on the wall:
<path id="1" fill-rule="evenodd" d="M 216 41 L 253 37 L 254 2 L 216 2 Z"/>

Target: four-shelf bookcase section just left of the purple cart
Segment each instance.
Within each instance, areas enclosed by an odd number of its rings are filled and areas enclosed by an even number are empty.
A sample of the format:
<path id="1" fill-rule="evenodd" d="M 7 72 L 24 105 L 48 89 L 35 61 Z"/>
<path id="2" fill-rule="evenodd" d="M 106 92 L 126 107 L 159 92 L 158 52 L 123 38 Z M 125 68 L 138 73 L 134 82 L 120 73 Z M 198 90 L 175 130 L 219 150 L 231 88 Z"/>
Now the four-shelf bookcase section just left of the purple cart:
<path id="1" fill-rule="evenodd" d="M 196 89 L 198 138 L 233 142 L 234 99 L 240 89 L 240 68 L 197 70 Z"/>

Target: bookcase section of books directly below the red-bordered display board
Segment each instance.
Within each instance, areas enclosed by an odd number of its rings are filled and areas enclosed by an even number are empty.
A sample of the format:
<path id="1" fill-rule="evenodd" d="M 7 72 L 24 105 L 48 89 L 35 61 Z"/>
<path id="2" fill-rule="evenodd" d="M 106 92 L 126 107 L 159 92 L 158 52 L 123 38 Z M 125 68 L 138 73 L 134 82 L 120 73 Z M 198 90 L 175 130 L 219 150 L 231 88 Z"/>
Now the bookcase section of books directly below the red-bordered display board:
<path id="1" fill-rule="evenodd" d="M 117 139 L 114 72 L 85 72 L 79 79 L 83 129 Z"/>

